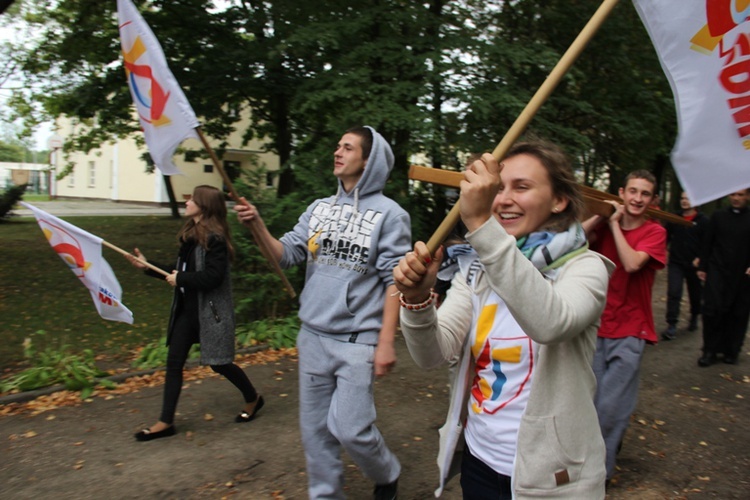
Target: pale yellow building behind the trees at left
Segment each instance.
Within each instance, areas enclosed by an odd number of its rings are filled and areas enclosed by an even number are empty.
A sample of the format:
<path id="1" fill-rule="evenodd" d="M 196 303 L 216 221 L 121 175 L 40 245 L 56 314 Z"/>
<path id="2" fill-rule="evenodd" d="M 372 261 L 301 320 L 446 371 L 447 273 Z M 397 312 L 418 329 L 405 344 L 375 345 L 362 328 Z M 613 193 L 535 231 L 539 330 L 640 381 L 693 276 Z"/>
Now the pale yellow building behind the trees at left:
<path id="1" fill-rule="evenodd" d="M 264 152 L 262 142 L 253 140 L 242 146 L 243 123 L 240 121 L 237 130 L 227 138 L 228 147 L 219 161 L 225 170 L 241 169 L 243 172 L 262 167 L 269 175 L 266 185 L 273 187 L 276 176 L 271 175 L 279 169 L 279 159 L 274 153 Z M 77 127 L 82 125 L 68 119 L 56 122 L 56 145 L 64 145 Z M 218 141 L 207 137 L 211 147 L 216 148 Z M 184 150 L 205 152 L 203 145 L 196 139 L 187 139 L 180 146 Z M 153 173 L 146 172 L 146 163 L 141 159 L 147 152 L 146 146 L 139 147 L 135 136 L 124 138 L 115 143 L 103 144 L 101 147 L 83 153 L 63 153 L 62 149 L 53 149 L 50 155 L 53 175 L 61 172 L 72 162 L 73 171 L 61 180 L 52 182 L 52 194 L 61 198 L 105 199 L 144 204 L 166 204 L 169 202 L 164 177 L 158 169 Z M 222 188 L 221 175 L 209 156 L 197 157 L 195 161 L 185 161 L 184 152 L 175 153 L 174 164 L 183 175 L 171 176 L 172 187 L 178 202 L 184 201 L 195 186 L 208 184 Z"/>

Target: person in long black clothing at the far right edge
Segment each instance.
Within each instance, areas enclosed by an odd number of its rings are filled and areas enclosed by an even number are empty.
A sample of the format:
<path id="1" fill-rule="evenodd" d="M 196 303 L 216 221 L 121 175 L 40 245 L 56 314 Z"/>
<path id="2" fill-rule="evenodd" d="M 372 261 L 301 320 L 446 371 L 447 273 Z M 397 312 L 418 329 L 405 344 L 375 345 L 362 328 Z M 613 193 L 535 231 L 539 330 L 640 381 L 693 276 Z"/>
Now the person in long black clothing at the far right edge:
<path id="1" fill-rule="evenodd" d="M 737 363 L 750 317 L 750 190 L 729 195 L 729 207 L 714 212 L 706 229 L 698 277 L 703 294 L 703 355 L 698 366 Z"/>

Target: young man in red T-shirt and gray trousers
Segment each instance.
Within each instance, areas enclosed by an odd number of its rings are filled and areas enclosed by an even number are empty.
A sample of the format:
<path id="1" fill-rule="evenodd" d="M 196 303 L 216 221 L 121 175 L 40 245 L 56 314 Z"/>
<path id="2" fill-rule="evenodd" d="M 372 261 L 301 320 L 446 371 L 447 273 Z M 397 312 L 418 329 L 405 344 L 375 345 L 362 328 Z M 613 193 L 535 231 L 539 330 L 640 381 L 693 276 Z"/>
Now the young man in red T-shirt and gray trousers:
<path id="1" fill-rule="evenodd" d="M 643 351 L 658 341 L 651 294 L 656 271 L 667 260 L 667 231 L 646 215 L 655 188 L 653 174 L 631 172 L 619 190 L 623 203 L 608 202 L 614 207 L 612 215 L 595 215 L 583 223 L 591 249 L 616 266 L 594 355 L 594 401 L 607 446 L 607 480 L 614 475 L 617 452 L 635 410 Z"/>

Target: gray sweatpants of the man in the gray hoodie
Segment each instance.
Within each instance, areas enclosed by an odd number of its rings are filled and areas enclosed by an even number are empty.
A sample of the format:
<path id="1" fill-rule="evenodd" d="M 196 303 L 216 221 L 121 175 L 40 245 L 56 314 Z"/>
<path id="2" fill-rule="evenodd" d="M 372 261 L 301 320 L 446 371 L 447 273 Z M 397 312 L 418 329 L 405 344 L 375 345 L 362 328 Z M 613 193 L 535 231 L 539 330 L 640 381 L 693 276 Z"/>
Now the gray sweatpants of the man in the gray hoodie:
<path id="1" fill-rule="evenodd" d="M 300 430 L 311 499 L 345 498 L 343 447 L 375 484 L 398 479 L 401 464 L 375 427 L 375 346 L 304 328 L 299 352 Z"/>

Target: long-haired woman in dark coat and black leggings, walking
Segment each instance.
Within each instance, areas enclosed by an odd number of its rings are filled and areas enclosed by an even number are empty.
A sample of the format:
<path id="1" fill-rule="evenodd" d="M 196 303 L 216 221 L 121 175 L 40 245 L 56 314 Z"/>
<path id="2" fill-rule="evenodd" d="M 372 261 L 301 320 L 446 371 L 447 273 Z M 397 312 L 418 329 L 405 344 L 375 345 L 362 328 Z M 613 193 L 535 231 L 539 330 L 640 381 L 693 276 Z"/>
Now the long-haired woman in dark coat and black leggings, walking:
<path id="1" fill-rule="evenodd" d="M 263 407 L 245 372 L 234 364 L 234 305 L 232 301 L 229 263 L 234 248 L 227 225 L 224 194 L 212 186 L 198 186 L 185 204 L 188 220 L 178 233 L 180 252 L 175 266 L 150 263 L 171 273 L 166 281 L 175 288 L 167 331 L 166 381 L 159 421 L 135 434 L 138 441 L 151 441 L 174 436 L 173 424 L 177 400 L 182 388 L 182 370 L 190 347 L 201 345 L 201 364 L 224 375 L 239 390 L 245 406 L 235 418 L 249 422 Z M 135 256 L 146 261 L 135 249 Z M 128 260 L 146 274 L 164 277 L 133 256 Z"/>

